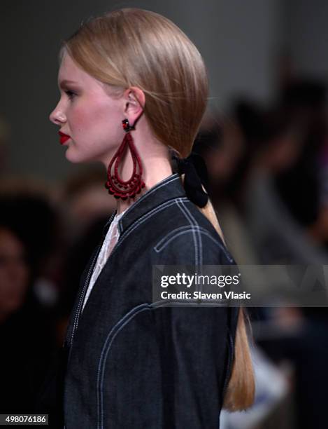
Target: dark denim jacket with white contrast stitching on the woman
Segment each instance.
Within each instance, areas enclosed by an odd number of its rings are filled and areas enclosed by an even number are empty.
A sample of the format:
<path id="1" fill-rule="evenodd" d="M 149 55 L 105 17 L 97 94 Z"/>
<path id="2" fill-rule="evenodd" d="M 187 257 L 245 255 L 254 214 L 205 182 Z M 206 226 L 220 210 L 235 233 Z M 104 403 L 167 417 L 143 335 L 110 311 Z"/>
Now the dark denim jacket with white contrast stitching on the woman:
<path id="1" fill-rule="evenodd" d="M 177 174 L 129 207 L 119 229 L 81 313 L 101 243 L 95 250 L 71 314 L 65 427 L 218 429 L 238 309 L 153 306 L 152 266 L 234 261 Z"/>

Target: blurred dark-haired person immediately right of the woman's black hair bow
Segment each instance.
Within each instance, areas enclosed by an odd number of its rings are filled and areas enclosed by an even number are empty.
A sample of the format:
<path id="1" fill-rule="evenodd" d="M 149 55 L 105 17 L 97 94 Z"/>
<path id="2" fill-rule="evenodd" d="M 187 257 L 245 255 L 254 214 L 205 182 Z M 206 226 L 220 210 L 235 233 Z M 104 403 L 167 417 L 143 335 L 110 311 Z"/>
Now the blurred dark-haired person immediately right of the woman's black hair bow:
<path id="1" fill-rule="evenodd" d="M 192 149 L 206 163 L 208 193 L 220 219 L 227 247 L 238 264 L 257 264 L 258 258 L 239 207 L 239 176 L 245 142 L 235 121 L 212 112 L 202 122 Z"/>

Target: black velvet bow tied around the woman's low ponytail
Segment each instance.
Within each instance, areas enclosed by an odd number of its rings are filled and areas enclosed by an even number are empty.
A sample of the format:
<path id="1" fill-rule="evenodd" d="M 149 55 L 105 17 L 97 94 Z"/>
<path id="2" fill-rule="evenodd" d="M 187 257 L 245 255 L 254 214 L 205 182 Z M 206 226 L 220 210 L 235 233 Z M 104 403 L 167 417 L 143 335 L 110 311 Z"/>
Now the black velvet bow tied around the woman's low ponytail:
<path id="1" fill-rule="evenodd" d="M 199 154 L 192 152 L 187 158 L 178 158 L 176 161 L 179 175 L 185 175 L 184 188 L 187 198 L 198 207 L 205 207 L 208 202 L 208 194 L 204 191 L 208 186 L 208 175 L 204 159 Z"/>

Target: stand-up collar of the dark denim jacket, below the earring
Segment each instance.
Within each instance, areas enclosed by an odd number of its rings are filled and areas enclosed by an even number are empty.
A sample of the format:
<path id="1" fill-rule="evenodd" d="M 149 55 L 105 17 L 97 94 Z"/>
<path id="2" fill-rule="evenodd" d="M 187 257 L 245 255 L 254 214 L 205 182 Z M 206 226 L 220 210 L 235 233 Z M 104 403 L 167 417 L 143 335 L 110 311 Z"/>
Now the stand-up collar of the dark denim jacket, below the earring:
<path id="1" fill-rule="evenodd" d="M 185 189 L 181 183 L 180 176 L 175 173 L 161 182 L 152 186 L 135 203 L 133 203 L 118 222 L 120 233 L 125 231 L 131 224 L 140 219 L 143 214 L 174 198 L 185 197 Z"/>

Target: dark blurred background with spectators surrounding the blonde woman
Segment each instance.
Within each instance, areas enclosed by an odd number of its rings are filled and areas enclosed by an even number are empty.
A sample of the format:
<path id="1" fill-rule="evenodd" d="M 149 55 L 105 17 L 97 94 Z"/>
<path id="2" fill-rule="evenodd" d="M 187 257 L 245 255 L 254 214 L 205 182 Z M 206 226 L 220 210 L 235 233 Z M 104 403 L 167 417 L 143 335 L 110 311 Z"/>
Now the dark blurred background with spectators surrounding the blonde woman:
<path id="1" fill-rule="evenodd" d="M 129 6 L 171 18 L 204 57 L 211 97 L 194 151 L 238 264 L 328 261 L 327 1 L 2 0 L 1 413 L 34 411 L 115 207 L 104 169 L 66 161 L 48 120 L 60 43 L 91 15 Z M 257 397 L 223 412 L 221 427 L 327 429 L 327 308 L 249 315 Z"/>

